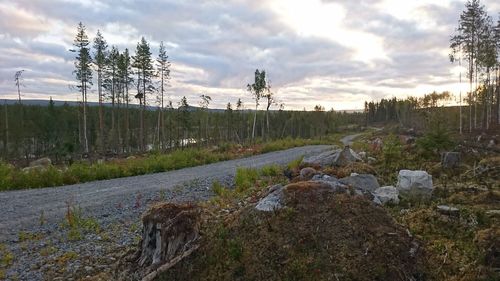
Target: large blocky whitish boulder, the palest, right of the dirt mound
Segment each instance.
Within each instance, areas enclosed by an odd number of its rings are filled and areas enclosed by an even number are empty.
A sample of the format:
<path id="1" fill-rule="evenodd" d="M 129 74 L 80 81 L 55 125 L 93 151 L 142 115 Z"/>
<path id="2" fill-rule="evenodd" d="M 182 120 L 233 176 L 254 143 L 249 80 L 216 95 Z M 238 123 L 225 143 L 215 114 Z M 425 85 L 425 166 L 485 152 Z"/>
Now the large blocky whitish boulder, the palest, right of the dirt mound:
<path id="1" fill-rule="evenodd" d="M 398 175 L 397 189 L 405 195 L 430 196 L 433 191 L 432 176 L 425 171 L 401 170 Z"/>

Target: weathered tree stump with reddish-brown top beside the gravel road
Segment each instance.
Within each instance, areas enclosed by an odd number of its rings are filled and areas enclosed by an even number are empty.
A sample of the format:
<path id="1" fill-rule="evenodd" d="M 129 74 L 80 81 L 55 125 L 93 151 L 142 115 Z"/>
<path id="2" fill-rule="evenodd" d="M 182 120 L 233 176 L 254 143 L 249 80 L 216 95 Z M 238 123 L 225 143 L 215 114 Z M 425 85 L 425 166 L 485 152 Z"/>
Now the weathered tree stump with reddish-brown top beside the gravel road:
<path id="1" fill-rule="evenodd" d="M 146 211 L 142 223 L 138 265 L 154 270 L 196 246 L 201 211 L 190 204 L 160 203 Z"/>

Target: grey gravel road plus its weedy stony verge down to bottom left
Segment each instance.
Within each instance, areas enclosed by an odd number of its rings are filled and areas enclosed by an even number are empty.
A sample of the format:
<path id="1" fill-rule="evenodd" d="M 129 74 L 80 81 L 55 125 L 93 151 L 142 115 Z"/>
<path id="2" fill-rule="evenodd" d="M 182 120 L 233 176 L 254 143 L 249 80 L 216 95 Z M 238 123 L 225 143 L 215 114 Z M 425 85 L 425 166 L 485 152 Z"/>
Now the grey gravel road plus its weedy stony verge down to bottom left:
<path id="1" fill-rule="evenodd" d="M 0 193 L 0 246 L 13 256 L 2 269 L 7 280 L 72 280 L 111 270 L 120 250 L 140 238 L 140 216 L 159 201 L 201 201 L 213 196 L 214 180 L 230 186 L 237 167 L 287 164 L 329 146 L 292 148 L 158 174 L 70 186 Z M 100 231 L 71 239 L 64 226 L 68 206 L 96 222 Z M 0 255 L 2 250 L 0 247 Z M 61 279 L 62 278 L 62 279 Z"/>

